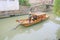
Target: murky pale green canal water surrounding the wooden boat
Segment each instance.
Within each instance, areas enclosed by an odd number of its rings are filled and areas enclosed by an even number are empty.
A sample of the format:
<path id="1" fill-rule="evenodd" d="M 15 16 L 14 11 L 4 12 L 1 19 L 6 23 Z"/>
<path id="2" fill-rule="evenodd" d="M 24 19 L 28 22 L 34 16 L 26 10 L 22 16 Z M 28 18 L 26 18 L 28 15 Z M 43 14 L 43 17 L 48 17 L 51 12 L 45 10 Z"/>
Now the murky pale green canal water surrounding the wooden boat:
<path id="1" fill-rule="evenodd" d="M 52 13 L 47 14 L 47 20 L 30 27 L 21 26 L 16 22 L 17 19 L 28 18 L 28 15 L 0 19 L 0 40 L 58 40 L 60 19 Z"/>

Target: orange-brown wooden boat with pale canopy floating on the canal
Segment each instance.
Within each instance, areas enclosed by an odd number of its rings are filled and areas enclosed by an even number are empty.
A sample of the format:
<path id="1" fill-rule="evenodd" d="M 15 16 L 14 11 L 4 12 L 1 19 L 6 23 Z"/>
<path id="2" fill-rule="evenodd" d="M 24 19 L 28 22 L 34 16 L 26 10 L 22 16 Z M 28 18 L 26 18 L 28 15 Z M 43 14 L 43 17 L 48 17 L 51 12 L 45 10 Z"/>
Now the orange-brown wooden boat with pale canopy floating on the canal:
<path id="1" fill-rule="evenodd" d="M 33 15 L 33 14 L 32 14 Z M 31 20 L 31 23 L 29 23 L 29 19 L 25 19 L 25 20 L 16 20 L 18 23 L 20 23 L 21 25 L 23 25 L 23 26 L 31 26 L 31 25 L 33 25 L 33 24 L 36 24 L 36 23 L 38 23 L 38 22 L 41 22 L 41 21 L 43 21 L 43 20 L 45 20 L 45 19 L 47 19 L 48 18 L 48 15 L 47 14 L 34 14 L 34 15 L 37 15 L 37 20 L 35 20 L 35 21 L 32 21 Z"/>

